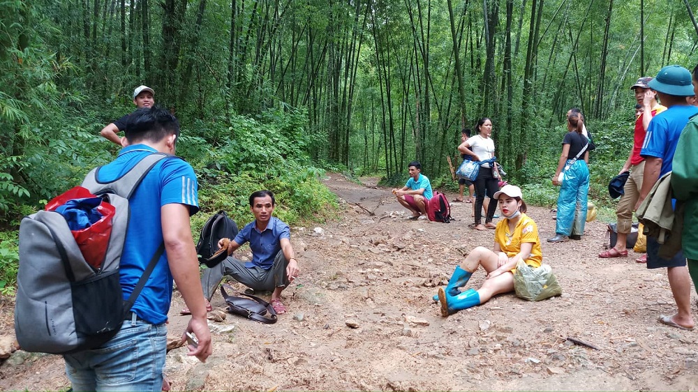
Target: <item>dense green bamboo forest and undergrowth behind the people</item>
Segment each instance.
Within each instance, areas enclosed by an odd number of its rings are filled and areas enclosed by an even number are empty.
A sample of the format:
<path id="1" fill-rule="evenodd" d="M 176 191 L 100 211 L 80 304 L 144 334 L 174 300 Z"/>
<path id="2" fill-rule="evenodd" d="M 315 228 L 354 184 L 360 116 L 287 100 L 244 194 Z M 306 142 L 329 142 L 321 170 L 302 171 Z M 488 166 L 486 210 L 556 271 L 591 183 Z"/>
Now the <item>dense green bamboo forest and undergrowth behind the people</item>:
<path id="1" fill-rule="evenodd" d="M 403 183 L 422 163 L 457 186 L 462 128 L 493 122 L 498 161 L 549 184 L 579 107 L 593 131 L 591 197 L 632 144 L 630 86 L 698 61 L 689 0 L 0 1 L 0 260 L 22 216 L 118 148 L 100 130 L 154 89 L 207 211 L 250 190 L 287 195 L 291 222 L 332 213 L 323 170 Z M 225 195 L 225 197 L 221 197 Z M 336 204 L 335 204 L 336 205 Z M 325 212 L 323 212 L 325 211 Z M 330 211 L 330 212 L 327 212 Z M 11 279 L 10 279 L 11 280 Z"/>

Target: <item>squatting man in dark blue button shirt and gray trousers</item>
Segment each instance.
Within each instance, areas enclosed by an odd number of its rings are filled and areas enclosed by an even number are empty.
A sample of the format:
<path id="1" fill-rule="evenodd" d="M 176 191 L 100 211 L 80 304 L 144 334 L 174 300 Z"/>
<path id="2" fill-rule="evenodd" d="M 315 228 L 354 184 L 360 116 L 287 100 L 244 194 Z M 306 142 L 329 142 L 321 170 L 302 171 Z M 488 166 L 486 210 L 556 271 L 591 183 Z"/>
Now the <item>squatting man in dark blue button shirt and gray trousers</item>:
<path id="1" fill-rule="evenodd" d="M 229 256 L 217 266 L 206 269 L 201 278 L 206 297 L 205 304 L 207 310 L 211 310 L 209 301 L 223 276 L 228 275 L 255 291 L 272 292 L 269 303 L 276 310 L 276 314 L 281 315 L 286 312 L 286 307 L 281 302 L 281 292 L 300 273 L 290 243 L 290 229 L 279 218 L 272 216 L 276 199 L 269 190 L 258 190 L 250 195 L 249 202 L 255 220 L 245 225 L 235 239 L 228 243 L 228 255 L 232 255 L 237 248 L 249 242 L 252 261 L 242 262 Z M 219 248 L 228 242 L 225 240 L 218 241 Z M 188 309 L 181 311 L 182 314 L 187 312 Z"/>

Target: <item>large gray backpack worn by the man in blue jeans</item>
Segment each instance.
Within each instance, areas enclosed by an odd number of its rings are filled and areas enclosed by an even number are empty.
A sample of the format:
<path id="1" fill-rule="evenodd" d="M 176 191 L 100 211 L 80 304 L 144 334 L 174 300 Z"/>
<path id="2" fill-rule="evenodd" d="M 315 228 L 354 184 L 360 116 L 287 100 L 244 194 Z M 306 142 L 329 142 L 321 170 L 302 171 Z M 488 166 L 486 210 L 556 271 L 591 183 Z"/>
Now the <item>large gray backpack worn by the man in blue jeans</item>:
<path id="1" fill-rule="evenodd" d="M 119 332 L 165 249 L 161 244 L 128 301 L 124 301 L 119 262 L 128 227 L 128 199 L 150 169 L 168 157 L 152 153 L 110 183 L 97 181 L 99 167 L 87 174 L 82 186 L 116 210 L 99 269 L 85 261 L 60 213 L 38 211 L 22 219 L 15 334 L 24 351 L 80 352 L 100 347 Z"/>

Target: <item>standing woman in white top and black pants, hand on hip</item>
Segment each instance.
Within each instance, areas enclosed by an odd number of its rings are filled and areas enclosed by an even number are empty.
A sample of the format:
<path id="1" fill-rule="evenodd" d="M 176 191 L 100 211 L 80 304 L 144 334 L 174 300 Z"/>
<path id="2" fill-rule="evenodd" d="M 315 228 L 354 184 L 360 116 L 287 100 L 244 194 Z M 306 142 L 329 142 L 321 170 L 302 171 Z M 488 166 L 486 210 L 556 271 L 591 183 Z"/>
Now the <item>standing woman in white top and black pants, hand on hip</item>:
<path id="1" fill-rule="evenodd" d="M 492 120 L 483 117 L 480 121 L 477 121 L 475 130 L 477 130 L 478 134 L 470 137 L 470 139 L 458 146 L 458 151 L 468 154 L 475 161 L 493 158 L 494 142 L 490 138 L 492 134 Z M 498 178 L 499 173 L 494 163 L 485 163 L 480 166 L 477 179 L 473 181 L 475 183 L 475 229 L 484 230 L 486 227 L 488 229 L 497 227 L 497 225 L 492 223 L 497 204 L 489 204 L 487 216 L 485 217 L 484 225 L 482 225 L 482 202 L 484 202 L 485 190 L 487 190 L 487 195 L 494 195 L 499 190 Z"/>

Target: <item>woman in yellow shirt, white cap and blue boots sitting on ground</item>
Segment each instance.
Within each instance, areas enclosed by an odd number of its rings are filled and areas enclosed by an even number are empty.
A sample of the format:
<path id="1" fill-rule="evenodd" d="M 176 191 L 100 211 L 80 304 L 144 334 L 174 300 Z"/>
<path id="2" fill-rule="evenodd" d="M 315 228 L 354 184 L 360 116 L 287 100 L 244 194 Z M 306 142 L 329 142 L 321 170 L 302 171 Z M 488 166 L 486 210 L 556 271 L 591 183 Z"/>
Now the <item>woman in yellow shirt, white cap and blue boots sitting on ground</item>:
<path id="1" fill-rule="evenodd" d="M 496 294 L 513 292 L 514 271 L 519 260 L 533 268 L 538 268 L 542 263 L 538 227 L 533 219 L 526 216 L 521 189 L 505 185 L 493 196 L 498 200 L 504 218 L 494 232 L 494 250 L 484 246 L 473 249 L 465 261 L 456 266 L 446 288 L 439 287 L 437 296 L 443 317 L 485 303 Z M 480 266 L 487 272 L 482 287 L 460 292 L 459 288 L 468 283 L 470 276 Z M 437 300 L 436 296 L 434 300 Z"/>

